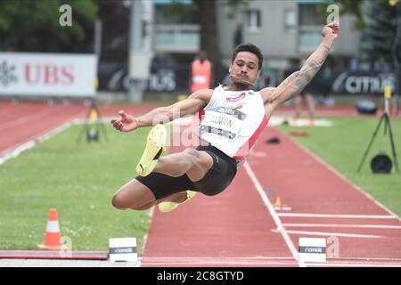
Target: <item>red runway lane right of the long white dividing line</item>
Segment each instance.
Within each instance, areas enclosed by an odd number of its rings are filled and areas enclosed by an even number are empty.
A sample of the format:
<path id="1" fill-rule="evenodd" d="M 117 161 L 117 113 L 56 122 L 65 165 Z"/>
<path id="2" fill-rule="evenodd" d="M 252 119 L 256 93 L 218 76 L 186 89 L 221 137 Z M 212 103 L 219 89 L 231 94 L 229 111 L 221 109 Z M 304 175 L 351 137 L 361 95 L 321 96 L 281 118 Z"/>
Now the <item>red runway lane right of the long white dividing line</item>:
<path id="1" fill-rule="evenodd" d="M 281 143 L 266 144 L 271 136 L 278 136 Z M 277 213 L 297 247 L 301 236 L 334 236 L 340 258 L 328 263 L 401 265 L 401 222 L 396 215 L 273 127 L 255 151 L 250 167 L 259 183 L 274 189 L 291 208 Z"/>

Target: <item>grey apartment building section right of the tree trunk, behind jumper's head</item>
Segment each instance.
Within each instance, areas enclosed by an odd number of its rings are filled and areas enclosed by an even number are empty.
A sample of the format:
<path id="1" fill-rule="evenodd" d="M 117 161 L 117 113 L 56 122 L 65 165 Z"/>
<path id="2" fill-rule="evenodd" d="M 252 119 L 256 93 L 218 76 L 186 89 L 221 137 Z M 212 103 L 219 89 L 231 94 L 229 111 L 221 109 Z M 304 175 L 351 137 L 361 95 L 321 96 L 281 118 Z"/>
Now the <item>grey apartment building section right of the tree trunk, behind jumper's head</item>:
<path id="1" fill-rule="evenodd" d="M 313 53 L 322 40 L 325 19 L 315 6 L 322 0 L 254 0 L 238 11 L 233 19 L 224 15 L 228 7 L 218 4 L 218 45 L 226 62 L 233 51 L 233 35 L 242 26 L 242 42 L 258 45 L 270 67 L 288 69 L 291 62 Z M 327 13 L 329 15 L 329 13 Z M 358 53 L 360 32 L 354 28 L 354 17 L 340 15 L 341 37 L 331 56 L 351 58 Z"/>

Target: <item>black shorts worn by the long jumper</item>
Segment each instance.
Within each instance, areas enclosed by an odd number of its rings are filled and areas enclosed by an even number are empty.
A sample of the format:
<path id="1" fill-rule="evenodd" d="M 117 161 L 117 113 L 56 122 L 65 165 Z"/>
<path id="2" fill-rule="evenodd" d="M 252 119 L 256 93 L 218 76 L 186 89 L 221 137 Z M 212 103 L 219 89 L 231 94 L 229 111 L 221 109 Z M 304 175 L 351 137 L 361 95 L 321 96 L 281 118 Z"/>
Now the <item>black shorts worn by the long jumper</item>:
<path id="1" fill-rule="evenodd" d="M 199 191 L 208 196 L 224 191 L 237 173 L 236 160 L 214 146 L 199 146 L 196 150 L 208 152 L 213 159 L 213 166 L 200 181 L 192 182 L 187 175 L 172 177 L 158 172 L 151 172 L 144 177 L 137 176 L 136 180 L 148 187 L 156 199 L 187 190 Z"/>

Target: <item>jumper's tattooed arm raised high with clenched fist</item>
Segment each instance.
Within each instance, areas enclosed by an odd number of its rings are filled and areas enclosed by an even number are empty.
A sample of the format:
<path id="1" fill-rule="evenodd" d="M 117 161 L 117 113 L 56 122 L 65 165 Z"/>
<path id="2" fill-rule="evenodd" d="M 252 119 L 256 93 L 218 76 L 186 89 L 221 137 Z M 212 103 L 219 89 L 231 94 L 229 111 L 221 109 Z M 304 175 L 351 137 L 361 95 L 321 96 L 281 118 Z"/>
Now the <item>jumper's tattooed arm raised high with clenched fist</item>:
<path id="1" fill-rule="evenodd" d="M 322 31 L 322 36 L 324 37 L 322 43 L 316 48 L 315 53 L 309 56 L 302 69 L 292 73 L 290 77 L 287 77 L 277 87 L 267 87 L 260 90 L 268 118 L 278 106 L 299 94 L 312 78 L 315 77 L 315 74 L 322 67 L 331 46 L 334 44 L 339 34 L 339 23 L 333 22 L 324 26 Z"/>

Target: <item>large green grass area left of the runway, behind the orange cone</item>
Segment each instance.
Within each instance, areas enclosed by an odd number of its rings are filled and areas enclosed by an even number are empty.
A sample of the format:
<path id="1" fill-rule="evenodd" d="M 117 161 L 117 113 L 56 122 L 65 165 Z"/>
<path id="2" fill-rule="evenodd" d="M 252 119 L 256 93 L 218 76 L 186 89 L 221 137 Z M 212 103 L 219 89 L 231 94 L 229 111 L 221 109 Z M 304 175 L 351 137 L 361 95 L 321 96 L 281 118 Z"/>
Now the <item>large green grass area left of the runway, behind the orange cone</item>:
<path id="1" fill-rule="evenodd" d="M 82 129 L 70 127 L 0 166 L 0 249 L 37 249 L 49 208 L 57 208 L 73 250 L 108 250 L 110 238 L 136 237 L 141 254 L 149 211 L 120 211 L 110 199 L 135 177 L 149 129 L 123 134 L 106 126 L 109 142 L 78 144 Z"/>

